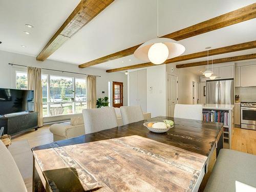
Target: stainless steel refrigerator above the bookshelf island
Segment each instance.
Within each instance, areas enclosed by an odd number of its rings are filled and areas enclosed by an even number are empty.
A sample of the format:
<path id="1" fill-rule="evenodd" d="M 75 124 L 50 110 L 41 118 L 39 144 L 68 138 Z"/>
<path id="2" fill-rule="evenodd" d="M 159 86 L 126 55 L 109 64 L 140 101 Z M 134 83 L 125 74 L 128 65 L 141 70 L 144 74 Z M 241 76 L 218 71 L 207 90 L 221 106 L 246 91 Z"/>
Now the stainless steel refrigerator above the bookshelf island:
<path id="1" fill-rule="evenodd" d="M 207 104 L 234 104 L 234 80 L 206 81 Z"/>

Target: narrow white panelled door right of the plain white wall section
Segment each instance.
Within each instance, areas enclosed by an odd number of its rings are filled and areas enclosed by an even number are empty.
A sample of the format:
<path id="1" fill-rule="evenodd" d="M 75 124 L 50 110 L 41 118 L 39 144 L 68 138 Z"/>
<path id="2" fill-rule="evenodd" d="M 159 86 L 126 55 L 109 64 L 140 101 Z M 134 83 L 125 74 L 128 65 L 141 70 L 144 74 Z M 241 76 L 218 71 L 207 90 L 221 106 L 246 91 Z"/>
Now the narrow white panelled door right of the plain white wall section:
<path id="1" fill-rule="evenodd" d="M 167 116 L 174 116 L 175 104 L 178 103 L 177 76 L 167 74 Z"/>

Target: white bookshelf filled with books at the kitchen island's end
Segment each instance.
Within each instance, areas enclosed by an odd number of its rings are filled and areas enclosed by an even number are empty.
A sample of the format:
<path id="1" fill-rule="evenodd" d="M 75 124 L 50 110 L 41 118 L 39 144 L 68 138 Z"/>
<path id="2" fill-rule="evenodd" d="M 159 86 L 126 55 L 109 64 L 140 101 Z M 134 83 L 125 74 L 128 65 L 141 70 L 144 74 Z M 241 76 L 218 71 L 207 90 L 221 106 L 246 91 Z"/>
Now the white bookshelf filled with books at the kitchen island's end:
<path id="1" fill-rule="evenodd" d="M 231 140 L 233 135 L 233 106 L 230 107 L 203 107 L 203 120 L 209 122 L 223 123 L 223 141 L 224 148 L 231 148 Z"/>

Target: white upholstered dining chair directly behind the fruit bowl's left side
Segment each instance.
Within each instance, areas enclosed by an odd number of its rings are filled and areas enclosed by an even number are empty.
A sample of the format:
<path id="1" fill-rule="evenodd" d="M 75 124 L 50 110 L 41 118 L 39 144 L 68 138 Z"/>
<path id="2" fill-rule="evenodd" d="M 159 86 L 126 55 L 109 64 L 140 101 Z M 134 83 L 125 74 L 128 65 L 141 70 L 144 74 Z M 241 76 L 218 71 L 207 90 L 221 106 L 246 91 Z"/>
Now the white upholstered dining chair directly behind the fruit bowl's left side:
<path id="1" fill-rule="evenodd" d="M 140 105 L 120 106 L 123 124 L 129 124 L 144 120 L 143 111 Z"/>

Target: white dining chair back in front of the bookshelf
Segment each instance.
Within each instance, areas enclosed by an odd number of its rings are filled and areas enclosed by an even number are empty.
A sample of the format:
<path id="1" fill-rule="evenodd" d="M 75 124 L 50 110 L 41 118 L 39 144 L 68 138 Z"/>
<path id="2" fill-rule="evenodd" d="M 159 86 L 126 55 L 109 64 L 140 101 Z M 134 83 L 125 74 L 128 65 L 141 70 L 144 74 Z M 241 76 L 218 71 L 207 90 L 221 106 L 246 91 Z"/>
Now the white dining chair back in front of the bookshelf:
<path id="1" fill-rule="evenodd" d="M 175 118 L 202 120 L 203 106 L 201 104 L 176 104 Z"/>

